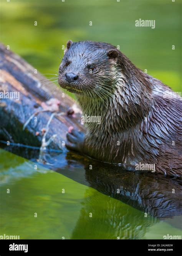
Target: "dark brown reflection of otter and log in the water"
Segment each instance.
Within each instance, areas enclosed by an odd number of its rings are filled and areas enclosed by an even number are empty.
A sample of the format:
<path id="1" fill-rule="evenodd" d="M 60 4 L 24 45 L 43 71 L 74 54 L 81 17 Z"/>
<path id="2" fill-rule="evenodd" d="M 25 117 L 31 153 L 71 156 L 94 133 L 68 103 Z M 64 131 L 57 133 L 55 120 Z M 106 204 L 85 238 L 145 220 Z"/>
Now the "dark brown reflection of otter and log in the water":
<path id="1" fill-rule="evenodd" d="M 121 167 L 97 162 L 69 152 L 66 164 L 60 168 L 63 156 L 53 160 L 53 169 L 99 192 L 121 200 L 132 207 L 158 218 L 182 214 L 182 182 L 155 173 L 126 171 Z M 79 161 L 79 162 L 78 162 Z M 67 165 L 68 164 L 68 165 Z M 92 169 L 90 170 L 90 165 Z M 71 172 L 68 170 L 71 169 Z"/>

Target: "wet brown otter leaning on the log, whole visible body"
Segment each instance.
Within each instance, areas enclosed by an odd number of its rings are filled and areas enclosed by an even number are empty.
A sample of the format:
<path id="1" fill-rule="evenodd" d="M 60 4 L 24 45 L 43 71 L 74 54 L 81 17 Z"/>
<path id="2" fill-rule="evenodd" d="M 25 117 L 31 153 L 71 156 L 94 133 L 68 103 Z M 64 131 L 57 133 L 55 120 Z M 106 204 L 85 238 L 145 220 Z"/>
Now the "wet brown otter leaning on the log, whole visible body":
<path id="1" fill-rule="evenodd" d="M 182 98 L 167 85 L 111 44 L 71 40 L 58 83 L 76 94 L 83 115 L 101 117 L 85 123 L 86 134 L 67 133 L 69 150 L 127 170 L 151 164 L 152 172 L 181 176 Z"/>

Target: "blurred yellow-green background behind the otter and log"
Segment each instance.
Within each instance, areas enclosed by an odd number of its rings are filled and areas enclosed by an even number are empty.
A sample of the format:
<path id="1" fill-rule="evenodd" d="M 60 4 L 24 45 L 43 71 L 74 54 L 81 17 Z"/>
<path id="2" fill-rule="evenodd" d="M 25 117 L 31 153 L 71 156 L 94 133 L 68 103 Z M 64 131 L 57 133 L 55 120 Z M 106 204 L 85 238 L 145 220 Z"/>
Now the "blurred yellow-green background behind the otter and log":
<path id="1" fill-rule="evenodd" d="M 0 12 L 1 41 L 43 74 L 58 71 L 67 40 L 96 40 L 120 45 L 137 67 L 181 91 L 180 0 L 1 0 Z M 138 19 L 156 28 L 135 27 Z"/>

